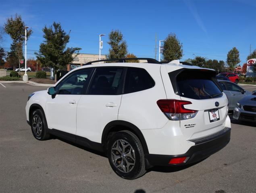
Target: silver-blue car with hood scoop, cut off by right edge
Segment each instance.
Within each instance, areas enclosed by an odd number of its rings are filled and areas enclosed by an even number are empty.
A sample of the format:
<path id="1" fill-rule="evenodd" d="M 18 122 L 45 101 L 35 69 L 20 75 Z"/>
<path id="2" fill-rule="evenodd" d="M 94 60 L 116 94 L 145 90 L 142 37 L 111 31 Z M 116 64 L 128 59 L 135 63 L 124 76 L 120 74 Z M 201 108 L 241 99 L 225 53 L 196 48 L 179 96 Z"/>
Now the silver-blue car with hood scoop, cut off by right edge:
<path id="1" fill-rule="evenodd" d="M 256 126 L 256 92 L 238 101 L 233 118 L 240 121 L 254 122 Z"/>

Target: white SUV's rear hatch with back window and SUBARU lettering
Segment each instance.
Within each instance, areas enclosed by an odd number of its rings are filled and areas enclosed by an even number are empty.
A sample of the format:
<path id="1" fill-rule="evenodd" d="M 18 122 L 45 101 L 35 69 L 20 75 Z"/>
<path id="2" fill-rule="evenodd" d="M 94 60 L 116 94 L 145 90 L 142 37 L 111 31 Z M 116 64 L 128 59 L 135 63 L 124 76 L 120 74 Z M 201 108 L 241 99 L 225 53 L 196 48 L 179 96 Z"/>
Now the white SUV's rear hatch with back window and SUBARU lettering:
<path id="1" fill-rule="evenodd" d="M 228 112 L 228 100 L 217 83 L 214 70 L 182 68 L 169 73 L 175 94 L 185 109 L 196 112 L 196 116 L 180 120 L 183 136 L 189 139 L 201 138 L 224 128 Z"/>

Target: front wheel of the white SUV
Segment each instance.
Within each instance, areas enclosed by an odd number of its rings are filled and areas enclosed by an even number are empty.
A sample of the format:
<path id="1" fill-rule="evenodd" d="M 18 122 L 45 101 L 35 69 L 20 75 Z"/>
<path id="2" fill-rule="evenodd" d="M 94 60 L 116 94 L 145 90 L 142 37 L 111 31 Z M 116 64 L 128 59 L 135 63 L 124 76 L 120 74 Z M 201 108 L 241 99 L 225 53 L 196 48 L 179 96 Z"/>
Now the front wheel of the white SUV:
<path id="1" fill-rule="evenodd" d="M 48 140 L 50 139 L 50 134 L 47 132 L 47 123 L 44 114 L 41 109 L 37 109 L 32 112 L 31 115 L 31 130 L 33 136 L 37 140 Z"/>

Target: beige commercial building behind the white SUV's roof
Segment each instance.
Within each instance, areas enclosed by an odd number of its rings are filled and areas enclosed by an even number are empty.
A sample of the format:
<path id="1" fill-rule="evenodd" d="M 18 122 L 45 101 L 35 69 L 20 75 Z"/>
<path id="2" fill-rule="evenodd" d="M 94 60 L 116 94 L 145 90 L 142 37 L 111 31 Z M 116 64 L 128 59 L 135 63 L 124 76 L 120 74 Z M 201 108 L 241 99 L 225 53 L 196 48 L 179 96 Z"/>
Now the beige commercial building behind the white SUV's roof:
<path id="1" fill-rule="evenodd" d="M 76 54 L 74 54 L 75 56 Z M 101 60 L 106 59 L 106 55 L 100 55 Z M 87 62 L 99 60 L 98 54 L 92 54 L 92 53 L 79 53 L 77 56 L 75 56 L 73 62 L 71 64 L 67 65 L 67 71 L 70 71 L 74 68 L 77 68 L 79 66 L 83 66 L 83 64 L 86 64 Z"/>

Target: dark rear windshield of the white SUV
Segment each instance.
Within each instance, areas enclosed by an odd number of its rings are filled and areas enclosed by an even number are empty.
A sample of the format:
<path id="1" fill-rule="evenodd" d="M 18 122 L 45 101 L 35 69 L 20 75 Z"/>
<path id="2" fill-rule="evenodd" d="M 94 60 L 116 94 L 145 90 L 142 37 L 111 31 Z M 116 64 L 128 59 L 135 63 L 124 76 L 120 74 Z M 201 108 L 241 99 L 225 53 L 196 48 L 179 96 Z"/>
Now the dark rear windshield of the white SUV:
<path id="1" fill-rule="evenodd" d="M 181 72 L 177 78 L 180 96 L 190 99 L 211 99 L 222 96 L 222 92 L 207 72 Z"/>

